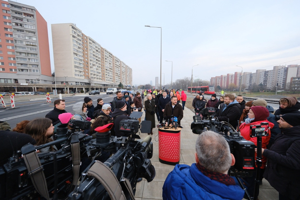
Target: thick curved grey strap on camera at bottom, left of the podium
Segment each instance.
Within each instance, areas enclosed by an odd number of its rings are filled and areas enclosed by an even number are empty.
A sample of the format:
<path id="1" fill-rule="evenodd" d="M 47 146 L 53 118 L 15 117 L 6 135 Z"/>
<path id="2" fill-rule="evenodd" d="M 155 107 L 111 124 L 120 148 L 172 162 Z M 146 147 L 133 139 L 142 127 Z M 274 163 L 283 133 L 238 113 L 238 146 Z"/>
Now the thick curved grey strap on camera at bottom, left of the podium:
<path id="1" fill-rule="evenodd" d="M 95 177 L 106 189 L 112 200 L 126 200 L 122 187 L 113 171 L 100 161 L 96 161 L 87 172 L 88 176 Z M 124 186 L 130 193 L 131 199 L 134 200 L 131 184 L 128 179 L 125 179 Z"/>

